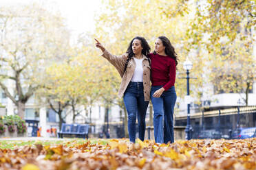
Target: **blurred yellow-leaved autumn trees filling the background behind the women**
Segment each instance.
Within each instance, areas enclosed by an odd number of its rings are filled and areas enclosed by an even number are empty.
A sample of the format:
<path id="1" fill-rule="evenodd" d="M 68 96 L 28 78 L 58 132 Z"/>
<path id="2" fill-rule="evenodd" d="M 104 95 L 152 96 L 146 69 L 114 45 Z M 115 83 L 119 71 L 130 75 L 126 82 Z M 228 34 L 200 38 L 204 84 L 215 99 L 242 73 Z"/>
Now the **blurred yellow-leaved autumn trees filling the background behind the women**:
<path id="1" fill-rule="evenodd" d="M 83 33 L 71 44 L 70 30 L 58 12 L 33 3 L 0 8 L 0 86 L 24 117 L 25 104 L 35 97 L 63 121 L 86 110 L 92 122 L 92 106 L 118 105 L 120 75 L 94 47 L 98 38 L 111 53 L 125 53 L 135 36 L 144 36 L 154 49 L 158 36 L 167 36 L 178 53 L 175 88 L 186 95 L 182 63 L 193 62 L 191 95 L 198 99 L 206 84 L 216 93 L 245 93 L 255 82 L 255 1 L 107 0 L 96 14 L 95 30 Z M 73 37 L 74 38 L 74 37 Z M 12 88 L 6 86 L 10 82 Z M 63 114 L 66 107 L 69 113 Z M 127 123 L 127 121 L 125 121 Z M 127 127 L 127 125 L 125 125 Z"/>

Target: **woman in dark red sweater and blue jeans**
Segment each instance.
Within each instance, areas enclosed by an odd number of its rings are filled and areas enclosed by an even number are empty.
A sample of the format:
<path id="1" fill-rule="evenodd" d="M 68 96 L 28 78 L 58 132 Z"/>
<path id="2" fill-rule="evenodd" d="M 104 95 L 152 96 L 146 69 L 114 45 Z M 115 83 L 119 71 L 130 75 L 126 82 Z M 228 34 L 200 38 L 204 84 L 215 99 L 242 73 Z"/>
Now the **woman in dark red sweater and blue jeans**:
<path id="1" fill-rule="evenodd" d="M 151 101 L 153 104 L 153 126 L 156 143 L 174 142 L 173 110 L 177 95 L 175 75 L 177 54 L 170 40 L 160 36 L 155 42 L 151 59 Z M 164 117 L 164 128 L 162 119 Z"/>

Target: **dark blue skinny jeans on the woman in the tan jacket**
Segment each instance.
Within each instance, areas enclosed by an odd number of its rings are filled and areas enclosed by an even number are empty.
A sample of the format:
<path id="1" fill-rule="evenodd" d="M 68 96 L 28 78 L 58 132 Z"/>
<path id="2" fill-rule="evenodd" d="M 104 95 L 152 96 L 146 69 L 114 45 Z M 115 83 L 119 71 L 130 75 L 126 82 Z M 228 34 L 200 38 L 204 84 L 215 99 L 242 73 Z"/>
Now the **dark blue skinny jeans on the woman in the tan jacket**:
<path id="1" fill-rule="evenodd" d="M 146 130 L 146 112 L 149 101 L 145 101 L 142 82 L 129 82 L 124 94 L 125 108 L 128 113 L 128 132 L 130 141 L 135 143 L 136 117 L 138 115 L 138 133 L 144 141 Z"/>

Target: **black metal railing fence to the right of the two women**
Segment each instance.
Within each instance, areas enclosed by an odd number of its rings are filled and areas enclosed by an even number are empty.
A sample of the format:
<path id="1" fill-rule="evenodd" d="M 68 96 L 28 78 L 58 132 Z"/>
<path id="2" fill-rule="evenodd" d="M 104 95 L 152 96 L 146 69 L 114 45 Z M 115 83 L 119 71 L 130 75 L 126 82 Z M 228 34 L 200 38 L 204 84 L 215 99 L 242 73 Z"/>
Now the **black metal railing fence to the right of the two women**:
<path id="1" fill-rule="evenodd" d="M 191 115 L 192 138 L 232 138 L 236 130 L 256 127 L 256 107 L 245 107 Z M 186 126 L 186 117 L 175 119 L 176 126 Z"/>

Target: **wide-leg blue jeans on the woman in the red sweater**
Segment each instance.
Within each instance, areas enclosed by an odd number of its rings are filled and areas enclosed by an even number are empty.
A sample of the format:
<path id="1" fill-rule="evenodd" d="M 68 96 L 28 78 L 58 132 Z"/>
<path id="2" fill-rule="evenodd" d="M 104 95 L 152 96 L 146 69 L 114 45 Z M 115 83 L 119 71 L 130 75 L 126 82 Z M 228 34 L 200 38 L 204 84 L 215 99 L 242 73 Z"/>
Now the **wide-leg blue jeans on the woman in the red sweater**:
<path id="1" fill-rule="evenodd" d="M 174 142 L 173 135 L 173 110 L 177 95 L 175 87 L 171 86 L 169 90 L 164 91 L 159 98 L 153 97 L 153 93 L 162 86 L 151 87 L 151 101 L 153 104 L 153 126 L 156 143 Z M 162 119 L 164 116 L 164 127 Z"/>

